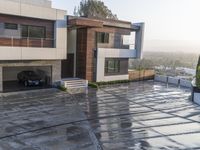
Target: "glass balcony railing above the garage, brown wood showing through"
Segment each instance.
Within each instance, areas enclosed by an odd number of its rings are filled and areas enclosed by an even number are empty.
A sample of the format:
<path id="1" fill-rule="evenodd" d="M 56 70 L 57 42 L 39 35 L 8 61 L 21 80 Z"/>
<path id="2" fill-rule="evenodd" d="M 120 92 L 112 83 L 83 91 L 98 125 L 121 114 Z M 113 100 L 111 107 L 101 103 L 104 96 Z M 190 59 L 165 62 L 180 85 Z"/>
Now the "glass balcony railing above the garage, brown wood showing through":
<path id="1" fill-rule="evenodd" d="M 55 39 L 0 36 L 0 46 L 54 48 Z"/>

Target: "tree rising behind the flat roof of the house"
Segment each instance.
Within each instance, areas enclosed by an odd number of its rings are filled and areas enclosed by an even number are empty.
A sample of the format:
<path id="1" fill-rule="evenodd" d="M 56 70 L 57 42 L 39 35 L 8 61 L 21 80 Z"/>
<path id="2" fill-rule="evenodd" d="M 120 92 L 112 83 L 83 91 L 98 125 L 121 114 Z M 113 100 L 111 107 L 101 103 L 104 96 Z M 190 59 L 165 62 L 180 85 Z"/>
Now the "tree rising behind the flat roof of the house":
<path id="1" fill-rule="evenodd" d="M 99 0 L 82 0 L 78 7 L 74 8 L 75 16 L 84 16 L 87 18 L 108 18 L 117 19 L 117 15 L 113 14 L 104 2 Z"/>

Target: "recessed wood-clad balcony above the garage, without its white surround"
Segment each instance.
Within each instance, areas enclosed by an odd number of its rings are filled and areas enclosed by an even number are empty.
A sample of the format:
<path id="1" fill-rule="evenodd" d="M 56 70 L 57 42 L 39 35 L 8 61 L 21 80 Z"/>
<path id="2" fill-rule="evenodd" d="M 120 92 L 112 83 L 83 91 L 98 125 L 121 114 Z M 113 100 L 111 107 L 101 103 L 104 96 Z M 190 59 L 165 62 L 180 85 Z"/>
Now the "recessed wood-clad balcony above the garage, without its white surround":
<path id="1" fill-rule="evenodd" d="M 0 15 L 0 46 L 54 48 L 55 21 Z"/>

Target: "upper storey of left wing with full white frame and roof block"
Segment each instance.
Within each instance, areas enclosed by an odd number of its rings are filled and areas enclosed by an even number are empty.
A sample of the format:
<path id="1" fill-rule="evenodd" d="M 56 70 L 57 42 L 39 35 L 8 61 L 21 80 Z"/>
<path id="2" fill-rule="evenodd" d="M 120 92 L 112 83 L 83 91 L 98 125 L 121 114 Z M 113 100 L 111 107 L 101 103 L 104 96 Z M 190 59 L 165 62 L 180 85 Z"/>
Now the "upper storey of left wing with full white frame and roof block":
<path id="1" fill-rule="evenodd" d="M 66 59 L 66 13 L 46 0 L 0 0 L 0 60 Z"/>

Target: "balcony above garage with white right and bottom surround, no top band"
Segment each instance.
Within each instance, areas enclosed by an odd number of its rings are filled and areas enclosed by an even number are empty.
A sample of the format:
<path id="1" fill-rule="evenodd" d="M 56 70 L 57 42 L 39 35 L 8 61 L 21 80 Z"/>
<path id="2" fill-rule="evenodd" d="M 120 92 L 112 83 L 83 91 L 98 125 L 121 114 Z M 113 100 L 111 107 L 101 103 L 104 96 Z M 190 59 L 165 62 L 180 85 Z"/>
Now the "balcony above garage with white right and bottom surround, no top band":
<path id="1" fill-rule="evenodd" d="M 1 14 L 0 60 L 66 59 L 66 27 L 59 23 Z"/>

